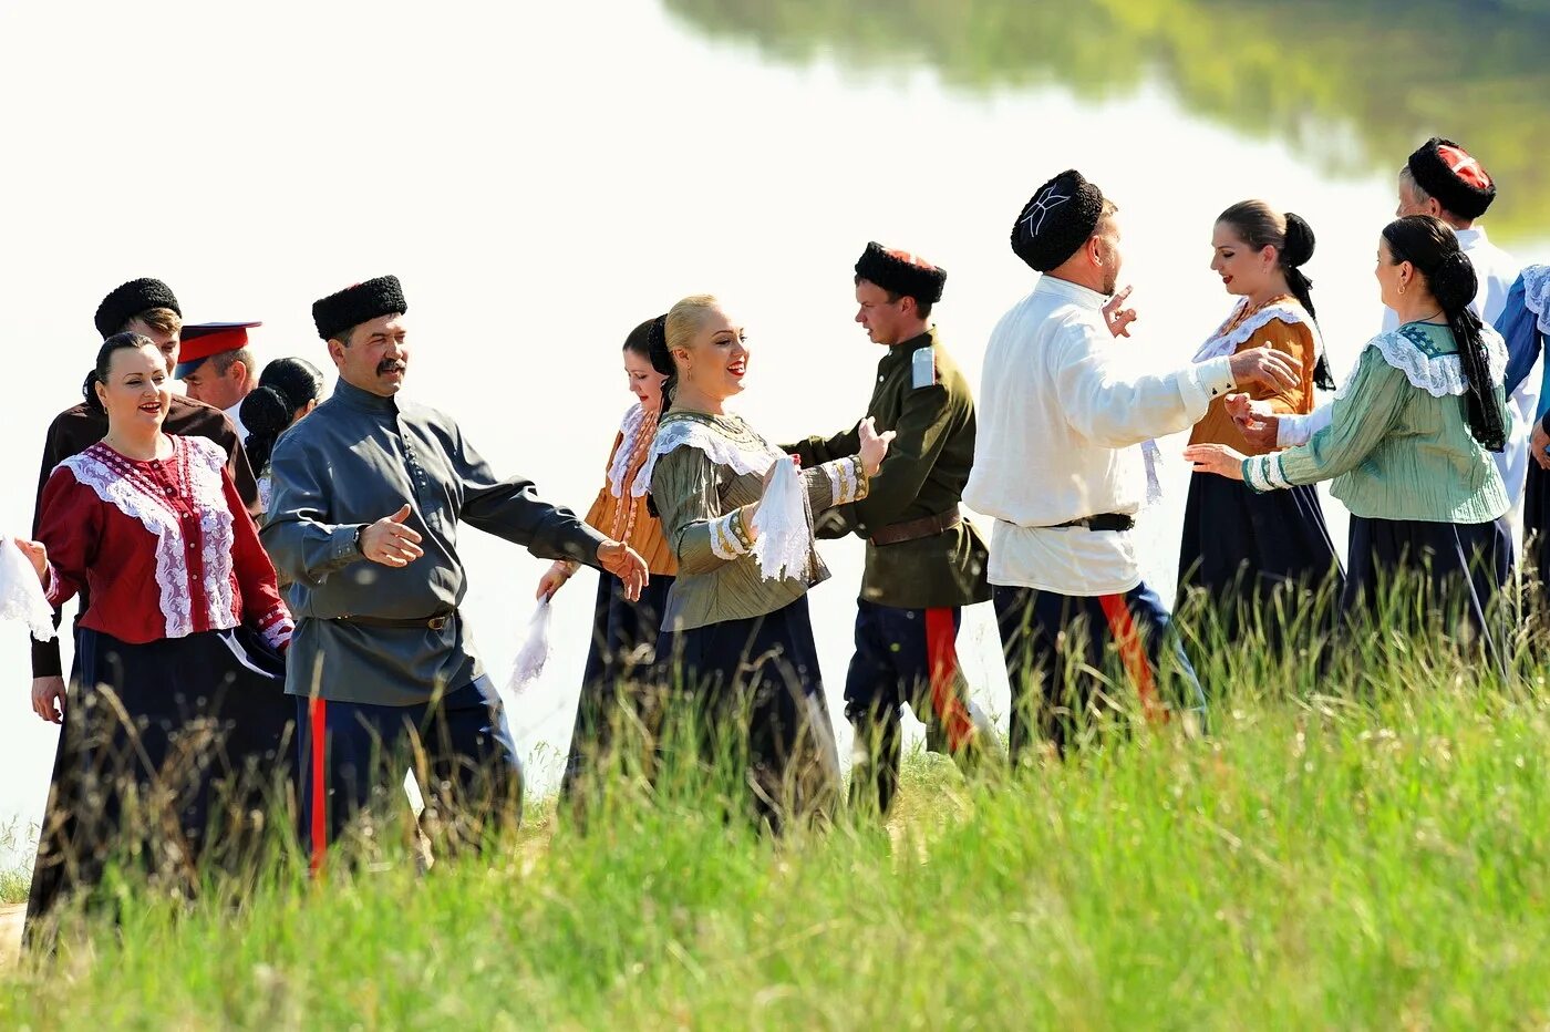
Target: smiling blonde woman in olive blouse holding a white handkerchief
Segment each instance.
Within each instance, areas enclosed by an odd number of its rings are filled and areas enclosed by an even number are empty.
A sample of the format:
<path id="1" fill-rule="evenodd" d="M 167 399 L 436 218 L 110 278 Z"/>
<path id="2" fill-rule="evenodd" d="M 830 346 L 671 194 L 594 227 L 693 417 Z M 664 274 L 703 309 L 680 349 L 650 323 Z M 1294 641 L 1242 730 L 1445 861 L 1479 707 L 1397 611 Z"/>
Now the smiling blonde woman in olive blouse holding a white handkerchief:
<path id="1" fill-rule="evenodd" d="M 651 363 L 670 373 L 673 398 L 648 463 L 651 501 L 679 564 L 657 655 L 671 657 L 705 761 L 739 765 L 750 815 L 778 832 L 831 812 L 840 784 L 808 615 L 808 589 L 829 575 L 812 518 L 866 497 L 893 431 L 862 420 L 857 454 L 803 470 L 787 505 L 761 522 L 792 457 L 727 411 L 749 370 L 742 325 L 708 294 L 684 298 L 653 335 Z M 795 533 L 775 530 L 781 524 Z M 766 569 L 756 555 L 783 544 L 783 556 L 800 550 L 798 569 Z"/>

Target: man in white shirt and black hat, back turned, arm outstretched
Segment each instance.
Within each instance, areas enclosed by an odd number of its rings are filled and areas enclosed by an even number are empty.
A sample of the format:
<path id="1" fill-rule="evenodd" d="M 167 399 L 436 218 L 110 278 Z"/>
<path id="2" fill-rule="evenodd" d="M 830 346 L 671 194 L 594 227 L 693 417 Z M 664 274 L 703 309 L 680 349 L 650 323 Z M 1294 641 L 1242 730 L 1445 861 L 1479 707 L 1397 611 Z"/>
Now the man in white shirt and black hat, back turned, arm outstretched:
<path id="1" fill-rule="evenodd" d="M 1166 716 L 1159 676 L 1184 708 L 1204 696 L 1130 530 L 1145 493 L 1141 443 L 1187 429 L 1234 387 L 1285 389 L 1299 370 L 1262 347 L 1166 375 L 1138 375 L 1114 344 L 1135 313 L 1114 296 L 1116 208 L 1079 172 L 1045 183 L 1012 228 L 1034 291 L 990 335 L 964 501 L 995 518 L 990 584 L 1012 685 L 1011 750 L 1035 736 L 1063 752 L 1093 713 L 1114 707 L 1099 671 L 1108 642 L 1139 708 Z M 1125 707 L 1128 710 L 1128 707 Z"/>

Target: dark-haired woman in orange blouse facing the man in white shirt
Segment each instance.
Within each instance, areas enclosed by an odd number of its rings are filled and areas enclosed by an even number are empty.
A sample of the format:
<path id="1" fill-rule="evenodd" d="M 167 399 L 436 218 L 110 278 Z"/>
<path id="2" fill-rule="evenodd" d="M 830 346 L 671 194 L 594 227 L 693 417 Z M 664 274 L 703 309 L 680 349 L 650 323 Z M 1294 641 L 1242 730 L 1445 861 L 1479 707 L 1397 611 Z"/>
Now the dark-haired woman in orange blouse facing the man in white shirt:
<path id="1" fill-rule="evenodd" d="M 1259 200 L 1240 201 L 1217 217 L 1211 240 L 1211 270 L 1229 294 L 1240 298 L 1195 361 L 1273 347 L 1300 369 L 1294 387 L 1260 387 L 1249 397 L 1276 414 L 1313 411 L 1313 389 L 1333 387 L 1324 339 L 1313 315 L 1313 284 L 1302 273 L 1313 257 L 1313 229 L 1300 217 L 1276 212 Z M 1215 443 L 1256 456 L 1217 398 L 1189 437 L 1192 445 Z M 1269 640 L 1296 621 L 1308 589 L 1339 578 L 1335 542 L 1311 485 L 1260 494 L 1220 477 L 1190 477 L 1184 505 L 1184 539 L 1178 558 L 1178 603 L 1204 592 L 1220 607 L 1229 640 L 1260 614 Z"/>

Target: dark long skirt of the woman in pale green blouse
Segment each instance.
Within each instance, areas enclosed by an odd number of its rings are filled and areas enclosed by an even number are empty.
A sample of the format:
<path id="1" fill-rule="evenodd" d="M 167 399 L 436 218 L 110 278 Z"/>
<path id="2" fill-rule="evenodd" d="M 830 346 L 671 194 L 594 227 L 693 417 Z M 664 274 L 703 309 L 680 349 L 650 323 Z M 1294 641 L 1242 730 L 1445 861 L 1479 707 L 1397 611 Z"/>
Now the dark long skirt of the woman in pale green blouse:
<path id="1" fill-rule="evenodd" d="M 1376 624 L 1477 642 L 1500 665 L 1508 617 L 1499 595 L 1511 573 L 1505 519 L 1437 524 L 1352 516 L 1341 612 L 1355 631 Z"/>

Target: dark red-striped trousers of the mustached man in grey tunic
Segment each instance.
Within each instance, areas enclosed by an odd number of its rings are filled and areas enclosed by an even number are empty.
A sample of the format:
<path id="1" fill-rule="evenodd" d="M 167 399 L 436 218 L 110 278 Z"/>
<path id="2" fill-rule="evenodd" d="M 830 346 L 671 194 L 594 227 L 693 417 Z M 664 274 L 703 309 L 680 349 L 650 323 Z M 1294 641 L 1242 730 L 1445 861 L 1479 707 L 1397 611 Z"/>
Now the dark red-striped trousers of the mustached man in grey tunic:
<path id="1" fill-rule="evenodd" d="M 313 871 L 329 843 L 395 798 L 406 770 L 439 845 L 480 845 L 522 815 L 522 764 L 488 677 L 412 707 L 296 697 L 302 840 Z M 322 748 L 318 748 L 318 744 Z"/>

